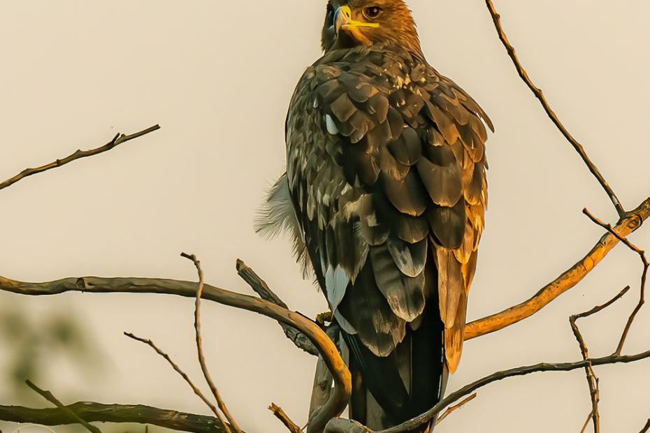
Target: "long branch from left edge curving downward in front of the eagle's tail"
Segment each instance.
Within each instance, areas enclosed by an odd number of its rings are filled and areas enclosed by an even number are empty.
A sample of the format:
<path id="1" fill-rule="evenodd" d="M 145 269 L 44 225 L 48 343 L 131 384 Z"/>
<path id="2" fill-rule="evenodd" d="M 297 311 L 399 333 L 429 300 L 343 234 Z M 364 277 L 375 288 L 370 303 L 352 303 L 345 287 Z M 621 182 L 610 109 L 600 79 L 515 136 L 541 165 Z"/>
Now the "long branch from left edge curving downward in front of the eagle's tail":
<path id="1" fill-rule="evenodd" d="M 161 293 L 179 295 L 186 298 L 196 297 L 196 283 L 175 281 L 171 279 L 150 278 L 66 278 L 47 283 L 26 283 L 0 277 L 0 290 L 21 295 L 57 295 L 65 292 L 82 293 Z M 343 362 L 338 348 L 332 340 L 308 318 L 295 311 L 289 311 L 272 302 L 226 291 L 222 288 L 205 284 L 204 300 L 218 302 L 239 309 L 253 311 L 293 326 L 311 340 L 324 358 L 327 368 L 333 375 L 334 391 L 321 411 L 312 417 L 308 432 L 322 432 L 328 420 L 339 416 L 347 405 L 352 392 L 352 379 Z"/>

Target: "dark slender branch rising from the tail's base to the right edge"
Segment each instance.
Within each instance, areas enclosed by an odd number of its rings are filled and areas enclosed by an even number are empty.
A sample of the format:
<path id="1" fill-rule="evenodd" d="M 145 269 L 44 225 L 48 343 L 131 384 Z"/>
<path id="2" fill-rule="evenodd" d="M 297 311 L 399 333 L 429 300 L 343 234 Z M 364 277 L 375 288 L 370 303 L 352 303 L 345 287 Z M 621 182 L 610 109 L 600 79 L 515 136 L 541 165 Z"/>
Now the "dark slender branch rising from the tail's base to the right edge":
<path id="1" fill-rule="evenodd" d="M 501 372 L 490 374 L 489 376 L 485 376 L 482 379 L 469 383 L 468 385 L 463 386 L 463 388 L 460 388 L 459 390 L 452 392 L 447 397 L 440 400 L 438 404 L 433 406 L 433 408 L 429 409 L 425 413 L 415 418 L 412 418 L 411 420 L 408 420 L 405 423 L 402 423 L 396 427 L 391 427 L 387 430 L 381 430 L 380 432 L 377 433 L 410 432 L 411 430 L 414 430 L 419 425 L 423 425 L 424 423 L 427 423 L 428 421 L 432 420 L 436 415 L 438 415 L 438 413 L 440 413 L 443 409 L 445 409 L 445 407 L 449 406 L 449 404 L 453 404 L 454 402 L 458 401 L 458 399 L 465 397 L 465 395 L 470 395 L 472 392 L 475 392 L 475 390 L 482 388 L 483 386 L 486 386 L 489 383 L 500 381 L 508 377 L 523 376 L 525 374 L 531 374 L 537 372 L 570 372 L 571 370 L 586 367 L 587 365 L 589 365 L 589 362 L 591 362 L 591 365 L 610 365 L 619 362 L 622 363 L 635 362 L 647 358 L 650 358 L 650 350 L 642 353 L 637 353 L 635 355 L 609 355 L 603 358 L 592 358 L 589 361 L 581 360 L 578 362 L 563 362 L 558 364 L 549 364 L 546 362 L 542 362 L 540 364 L 528 365 L 526 367 L 517 367 L 513 369 L 503 370 Z"/>

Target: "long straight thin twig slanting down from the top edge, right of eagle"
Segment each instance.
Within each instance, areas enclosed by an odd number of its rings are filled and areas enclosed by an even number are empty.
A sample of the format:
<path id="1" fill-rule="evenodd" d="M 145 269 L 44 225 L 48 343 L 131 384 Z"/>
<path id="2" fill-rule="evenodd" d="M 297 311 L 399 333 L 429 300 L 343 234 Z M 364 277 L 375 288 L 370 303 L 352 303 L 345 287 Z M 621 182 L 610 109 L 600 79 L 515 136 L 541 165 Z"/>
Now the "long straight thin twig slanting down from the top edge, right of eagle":
<path id="1" fill-rule="evenodd" d="M 565 128 L 562 122 L 560 122 L 560 119 L 555 114 L 555 112 L 551 109 L 551 106 L 546 100 L 546 97 L 544 96 L 542 90 L 539 87 L 535 86 L 533 80 L 530 80 L 530 77 L 528 77 L 528 73 L 523 68 L 523 66 L 521 66 L 521 62 L 517 57 L 517 52 L 514 50 L 514 47 L 510 44 L 510 41 L 508 41 L 508 38 L 505 35 L 505 32 L 503 31 L 503 27 L 501 26 L 501 15 L 497 13 L 492 1 L 486 0 L 485 3 L 487 5 L 488 10 L 490 11 L 490 15 L 492 16 L 492 21 L 494 22 L 494 27 L 496 28 L 497 33 L 499 34 L 499 39 L 501 40 L 501 43 L 503 43 L 503 46 L 507 50 L 510 59 L 512 59 L 512 63 L 514 63 L 514 66 L 517 68 L 517 73 L 519 73 L 519 77 L 521 77 L 523 82 L 526 82 L 528 88 L 531 91 L 533 91 L 533 94 L 535 94 L 537 99 L 539 99 L 540 103 L 542 103 L 542 107 L 544 108 L 544 111 L 546 111 L 547 115 L 551 118 L 551 120 L 553 121 L 555 126 L 557 126 L 557 128 L 560 130 L 562 135 L 564 135 L 564 137 L 568 140 L 568 142 L 571 143 L 571 145 L 576 150 L 576 152 L 578 152 L 578 154 L 582 158 L 582 161 L 584 161 L 591 174 L 598 180 L 598 183 L 600 183 L 602 189 L 604 189 L 605 192 L 607 193 L 609 200 L 612 200 L 614 207 L 616 207 L 616 212 L 619 213 L 619 217 L 623 218 L 626 215 L 625 209 L 623 209 L 623 205 L 621 205 L 619 198 L 616 197 L 616 194 L 612 190 L 612 187 L 609 186 L 605 178 L 602 177 L 600 171 L 598 170 L 598 167 L 596 167 L 594 163 L 591 162 L 591 159 L 589 159 L 589 157 L 587 156 L 584 147 L 582 147 L 582 145 L 573 137 L 573 135 L 571 135 L 571 133 Z"/>

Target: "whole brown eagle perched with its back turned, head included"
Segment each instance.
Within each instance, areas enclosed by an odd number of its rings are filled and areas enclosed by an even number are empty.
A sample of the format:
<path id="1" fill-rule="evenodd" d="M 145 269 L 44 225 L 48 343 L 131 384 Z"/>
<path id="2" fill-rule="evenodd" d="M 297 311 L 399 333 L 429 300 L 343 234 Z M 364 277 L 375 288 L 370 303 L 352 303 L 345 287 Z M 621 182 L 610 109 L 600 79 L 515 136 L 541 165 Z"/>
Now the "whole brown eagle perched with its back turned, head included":
<path id="1" fill-rule="evenodd" d="M 259 230 L 293 235 L 349 351 L 351 418 L 380 429 L 434 406 L 458 367 L 493 126 L 427 63 L 403 0 L 329 0 L 322 49 Z"/>

